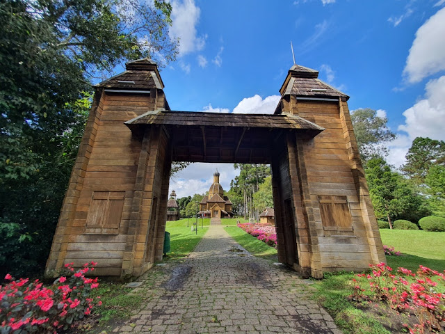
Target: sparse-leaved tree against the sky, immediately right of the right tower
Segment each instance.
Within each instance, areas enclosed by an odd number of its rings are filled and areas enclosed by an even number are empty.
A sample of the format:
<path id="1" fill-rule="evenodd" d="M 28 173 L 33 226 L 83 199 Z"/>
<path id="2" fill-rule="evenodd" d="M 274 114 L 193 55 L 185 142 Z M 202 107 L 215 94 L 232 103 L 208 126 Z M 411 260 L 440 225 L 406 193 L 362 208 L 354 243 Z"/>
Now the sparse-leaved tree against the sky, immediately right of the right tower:
<path id="1" fill-rule="evenodd" d="M 369 159 L 387 156 L 385 143 L 396 138 L 396 134 L 387 127 L 387 118 L 377 116 L 373 109 L 357 109 L 350 118 L 364 164 Z"/>

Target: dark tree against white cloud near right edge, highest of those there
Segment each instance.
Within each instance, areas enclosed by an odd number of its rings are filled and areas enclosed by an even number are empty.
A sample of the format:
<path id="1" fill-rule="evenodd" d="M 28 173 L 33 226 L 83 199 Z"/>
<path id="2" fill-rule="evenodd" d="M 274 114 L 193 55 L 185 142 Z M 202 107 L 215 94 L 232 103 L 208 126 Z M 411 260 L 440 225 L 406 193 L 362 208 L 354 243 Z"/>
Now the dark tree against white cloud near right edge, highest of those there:
<path id="1" fill-rule="evenodd" d="M 421 186 L 431 166 L 445 166 L 445 142 L 416 137 L 405 159 L 403 172 L 416 186 Z"/>

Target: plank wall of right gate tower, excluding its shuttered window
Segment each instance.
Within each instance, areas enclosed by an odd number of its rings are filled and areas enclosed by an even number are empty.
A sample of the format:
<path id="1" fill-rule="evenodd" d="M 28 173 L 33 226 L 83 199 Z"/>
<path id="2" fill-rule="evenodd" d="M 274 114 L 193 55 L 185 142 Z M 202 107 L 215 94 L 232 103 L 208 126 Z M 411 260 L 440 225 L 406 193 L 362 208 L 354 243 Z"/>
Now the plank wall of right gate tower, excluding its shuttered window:
<path id="1" fill-rule="evenodd" d="M 346 102 L 341 103 L 343 109 L 347 108 Z M 323 271 L 367 269 L 369 263 L 385 260 L 385 257 L 381 256 L 380 234 L 373 212 L 371 214 L 369 210 L 372 205 L 367 188 L 357 188 L 360 184 L 366 185 L 364 175 L 362 173 L 359 180 L 353 176 L 353 171 L 357 172 L 361 166 L 357 167 L 357 146 L 355 144 L 353 148 L 351 145 L 355 138 L 351 139 L 353 130 L 350 118 L 349 124 L 347 122 L 349 114 L 345 116 L 343 112 L 340 118 L 339 102 L 293 101 L 293 106 L 297 105 L 298 109 L 293 108 L 293 111 L 297 111 L 298 116 L 325 128 L 314 139 L 301 140 L 298 145 L 298 157 L 305 163 L 307 193 L 314 208 L 313 216 L 309 215 L 309 225 L 313 221 L 320 237 L 321 267 Z M 323 230 L 319 195 L 346 196 L 353 218 L 352 232 Z"/>

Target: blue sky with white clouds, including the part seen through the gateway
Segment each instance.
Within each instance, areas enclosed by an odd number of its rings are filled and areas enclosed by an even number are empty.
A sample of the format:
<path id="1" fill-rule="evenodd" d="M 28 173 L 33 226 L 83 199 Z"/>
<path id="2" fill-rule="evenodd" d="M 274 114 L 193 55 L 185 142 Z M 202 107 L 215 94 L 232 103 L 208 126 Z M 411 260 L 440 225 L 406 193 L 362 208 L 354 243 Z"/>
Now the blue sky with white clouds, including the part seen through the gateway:
<path id="1" fill-rule="evenodd" d="M 172 0 L 179 57 L 161 71 L 173 110 L 273 113 L 296 63 L 350 95 L 350 110 L 387 116 L 403 164 L 416 136 L 445 140 L 445 0 Z M 170 183 L 179 197 L 221 184 L 232 165 L 193 164 Z"/>

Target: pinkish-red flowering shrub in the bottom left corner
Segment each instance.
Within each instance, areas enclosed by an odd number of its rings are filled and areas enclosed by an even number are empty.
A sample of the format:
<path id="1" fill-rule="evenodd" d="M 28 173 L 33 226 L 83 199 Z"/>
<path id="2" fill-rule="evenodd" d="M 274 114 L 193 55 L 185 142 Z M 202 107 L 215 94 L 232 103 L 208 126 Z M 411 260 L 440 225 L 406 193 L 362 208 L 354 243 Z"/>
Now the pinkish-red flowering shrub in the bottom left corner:
<path id="1" fill-rule="evenodd" d="M 95 305 L 102 304 L 89 298 L 91 289 L 99 285 L 97 278 L 85 277 L 96 264 L 86 263 L 75 272 L 72 263 L 65 264 L 65 276 L 57 278 L 49 288 L 39 280 L 15 280 L 7 274 L 5 280 L 9 283 L 0 285 L 1 334 L 57 333 L 89 315 Z"/>

